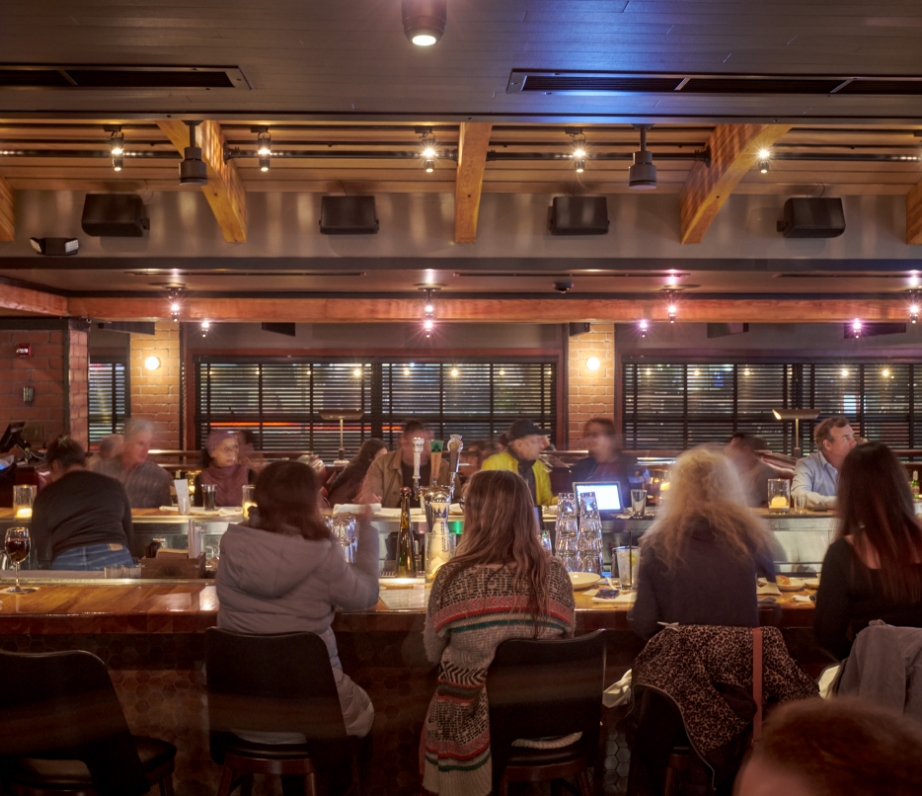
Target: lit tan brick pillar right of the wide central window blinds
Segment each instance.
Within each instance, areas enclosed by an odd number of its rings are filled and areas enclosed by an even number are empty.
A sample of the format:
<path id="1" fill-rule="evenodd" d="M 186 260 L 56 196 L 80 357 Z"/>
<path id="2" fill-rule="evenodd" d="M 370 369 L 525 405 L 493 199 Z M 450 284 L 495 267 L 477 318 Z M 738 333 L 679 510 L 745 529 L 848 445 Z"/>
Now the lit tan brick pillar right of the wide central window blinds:
<path id="1" fill-rule="evenodd" d="M 599 369 L 586 367 L 596 357 Z M 615 327 L 594 323 L 590 331 L 569 338 L 567 348 L 567 447 L 580 447 L 583 424 L 597 415 L 615 414 Z"/>

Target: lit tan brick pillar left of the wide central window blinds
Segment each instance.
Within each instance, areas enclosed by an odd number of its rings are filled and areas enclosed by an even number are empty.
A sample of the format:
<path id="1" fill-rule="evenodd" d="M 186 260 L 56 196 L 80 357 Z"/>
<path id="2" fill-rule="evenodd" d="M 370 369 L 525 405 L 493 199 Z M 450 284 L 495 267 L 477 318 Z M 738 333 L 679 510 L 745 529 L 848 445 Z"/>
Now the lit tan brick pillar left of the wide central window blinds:
<path id="1" fill-rule="evenodd" d="M 157 370 L 145 361 L 155 356 Z M 179 440 L 179 393 L 182 365 L 179 324 L 158 321 L 156 335 L 131 335 L 131 416 L 154 424 L 154 448 L 182 447 Z"/>

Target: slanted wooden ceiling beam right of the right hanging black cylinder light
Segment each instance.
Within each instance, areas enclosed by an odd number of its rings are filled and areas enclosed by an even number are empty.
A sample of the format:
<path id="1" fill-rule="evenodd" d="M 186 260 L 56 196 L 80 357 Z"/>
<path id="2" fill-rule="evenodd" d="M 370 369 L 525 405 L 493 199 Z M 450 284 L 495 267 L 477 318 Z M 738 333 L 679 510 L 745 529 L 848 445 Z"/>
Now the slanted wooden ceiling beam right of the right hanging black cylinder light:
<path id="1" fill-rule="evenodd" d="M 679 194 L 682 243 L 701 243 L 737 183 L 755 166 L 760 149 L 768 149 L 791 125 L 721 124 L 708 138 L 711 165 L 692 166 Z"/>

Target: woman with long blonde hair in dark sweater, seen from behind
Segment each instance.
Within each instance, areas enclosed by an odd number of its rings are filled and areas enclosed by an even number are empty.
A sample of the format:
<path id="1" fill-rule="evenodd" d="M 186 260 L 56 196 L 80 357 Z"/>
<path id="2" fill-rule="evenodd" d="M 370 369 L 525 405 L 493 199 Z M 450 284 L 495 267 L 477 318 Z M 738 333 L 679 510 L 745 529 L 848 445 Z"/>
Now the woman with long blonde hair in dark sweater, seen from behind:
<path id="1" fill-rule="evenodd" d="M 756 577 L 774 580 L 772 538 L 743 501 L 721 453 L 686 451 L 672 467 L 669 499 L 641 544 L 634 631 L 660 623 L 758 627 Z"/>

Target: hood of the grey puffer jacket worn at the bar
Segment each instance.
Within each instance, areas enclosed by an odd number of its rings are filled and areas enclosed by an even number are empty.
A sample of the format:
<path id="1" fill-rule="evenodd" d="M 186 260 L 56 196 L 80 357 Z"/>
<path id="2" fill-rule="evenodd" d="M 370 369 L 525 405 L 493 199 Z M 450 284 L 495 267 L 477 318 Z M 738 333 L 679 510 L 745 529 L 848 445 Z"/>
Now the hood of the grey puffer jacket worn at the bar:
<path id="1" fill-rule="evenodd" d="M 221 537 L 218 576 L 240 591 L 281 597 L 322 567 L 332 552 L 330 539 L 229 525 Z"/>

